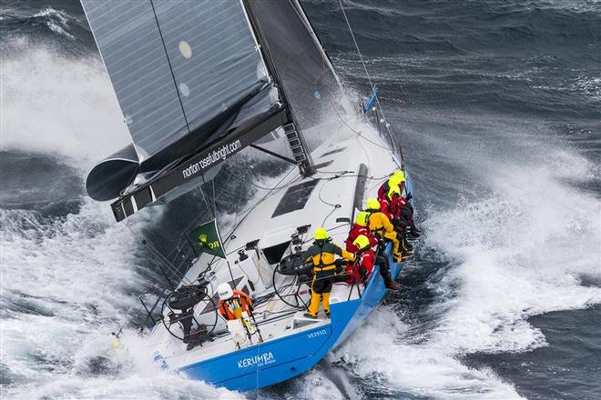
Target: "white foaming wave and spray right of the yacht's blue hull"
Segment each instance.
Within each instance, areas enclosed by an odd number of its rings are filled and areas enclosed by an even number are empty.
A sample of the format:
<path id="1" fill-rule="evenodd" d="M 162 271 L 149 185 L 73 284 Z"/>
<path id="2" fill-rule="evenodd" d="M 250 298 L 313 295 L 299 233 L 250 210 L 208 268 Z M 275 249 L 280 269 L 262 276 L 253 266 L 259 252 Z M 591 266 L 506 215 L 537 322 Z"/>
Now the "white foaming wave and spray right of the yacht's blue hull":
<path id="1" fill-rule="evenodd" d="M 469 149 L 466 158 L 474 150 L 457 146 Z M 480 179 L 463 187 L 456 205 L 431 202 L 423 256 L 405 272 L 444 265 L 426 283 L 432 304 L 418 317 L 397 307 L 399 319 L 392 306 L 380 309 L 336 353 L 392 395 L 521 398 L 492 369 L 463 357 L 545 346 L 530 316 L 601 303 L 601 286 L 587 284 L 601 279 L 601 202 L 575 185 L 598 180 L 598 165 L 543 144 L 511 162 L 479 153 L 472 172 Z M 453 182 L 440 172 L 439 179 Z"/>

